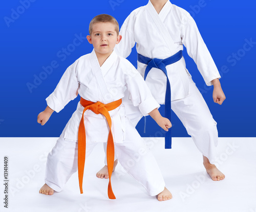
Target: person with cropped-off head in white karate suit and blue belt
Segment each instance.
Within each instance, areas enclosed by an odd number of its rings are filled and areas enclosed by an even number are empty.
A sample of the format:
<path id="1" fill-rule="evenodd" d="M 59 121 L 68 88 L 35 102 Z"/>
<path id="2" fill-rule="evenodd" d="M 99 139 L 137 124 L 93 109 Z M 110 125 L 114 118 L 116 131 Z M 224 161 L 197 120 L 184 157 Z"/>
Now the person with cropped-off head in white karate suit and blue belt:
<path id="1" fill-rule="evenodd" d="M 225 95 L 219 81 L 220 74 L 194 19 L 182 8 L 171 4 L 169 0 L 150 0 L 146 6 L 137 8 L 125 19 L 120 34 L 122 41 L 115 48 L 117 54 L 126 58 L 137 43 L 138 72 L 142 77 L 147 74 L 145 80 L 153 97 L 167 108 L 170 101 L 165 102 L 165 94 L 167 94 L 166 89 L 171 88 L 172 109 L 203 154 L 203 164 L 207 173 L 212 180 L 224 179 L 225 175 L 214 165 L 217 159 L 217 123 L 191 79 L 182 57 L 184 44 L 188 55 L 196 62 L 205 83 L 208 86 L 214 85 L 212 95 L 214 102 L 221 105 Z M 159 60 L 166 58 L 167 60 L 176 58 L 178 61 L 163 64 L 164 62 Z M 163 66 L 167 70 L 167 79 L 170 83 L 167 87 Z M 128 92 L 123 98 L 123 103 L 125 113 L 136 126 L 142 114 L 131 104 Z M 96 176 L 108 178 L 107 168 L 105 165 Z"/>

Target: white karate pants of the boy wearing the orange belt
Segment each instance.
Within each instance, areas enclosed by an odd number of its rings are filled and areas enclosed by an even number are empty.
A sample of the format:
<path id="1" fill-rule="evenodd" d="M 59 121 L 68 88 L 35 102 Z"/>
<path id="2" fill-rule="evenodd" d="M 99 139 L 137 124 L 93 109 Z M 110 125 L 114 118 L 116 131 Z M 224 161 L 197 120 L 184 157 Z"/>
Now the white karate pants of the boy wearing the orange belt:
<path id="1" fill-rule="evenodd" d="M 150 196 L 158 195 L 164 190 L 165 183 L 154 155 L 127 118 L 125 131 L 123 143 L 115 143 L 115 155 L 118 161 L 127 173 L 142 184 Z M 97 144 L 87 143 L 86 158 Z M 55 147 L 48 154 L 45 183 L 54 191 L 60 192 L 71 175 L 77 171 L 77 148 L 78 143 L 63 138 L 62 133 Z M 115 181 L 112 180 L 112 184 L 114 183 Z"/>

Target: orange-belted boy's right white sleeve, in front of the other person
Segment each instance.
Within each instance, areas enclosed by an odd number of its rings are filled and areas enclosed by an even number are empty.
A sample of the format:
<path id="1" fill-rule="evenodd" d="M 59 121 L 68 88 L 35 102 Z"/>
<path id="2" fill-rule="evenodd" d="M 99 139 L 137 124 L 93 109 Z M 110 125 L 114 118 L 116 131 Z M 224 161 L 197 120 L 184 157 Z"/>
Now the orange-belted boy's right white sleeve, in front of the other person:
<path id="1" fill-rule="evenodd" d="M 150 88 L 134 66 L 129 70 L 129 75 L 126 76 L 126 87 L 131 94 L 133 105 L 139 107 L 144 116 L 160 107 L 152 96 Z"/>

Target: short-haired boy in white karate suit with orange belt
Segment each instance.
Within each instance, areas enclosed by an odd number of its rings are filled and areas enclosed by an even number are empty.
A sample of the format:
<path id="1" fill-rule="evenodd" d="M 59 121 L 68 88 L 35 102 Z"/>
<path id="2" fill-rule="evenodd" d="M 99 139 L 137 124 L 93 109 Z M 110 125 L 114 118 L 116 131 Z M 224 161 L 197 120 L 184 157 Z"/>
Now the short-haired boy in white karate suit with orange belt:
<path id="1" fill-rule="evenodd" d="M 79 93 L 81 100 L 77 110 L 48 155 L 46 184 L 39 193 L 52 195 L 54 191 L 60 192 L 78 169 L 82 194 L 85 156 L 90 155 L 98 142 L 105 142 L 108 143 L 110 179 L 114 154 L 124 167 L 133 154 L 144 150 L 145 154 L 141 155 L 140 160 L 126 171 L 145 187 L 148 194 L 157 195 L 160 201 L 169 200 L 172 194 L 164 185 L 154 156 L 124 115 L 121 98 L 124 97 L 125 86 L 131 93 L 133 104 L 139 107 L 143 115 L 150 114 L 166 131 L 172 125 L 160 115 L 157 109 L 159 104 L 135 67 L 113 51 L 121 40 L 116 19 L 106 14 L 98 15 L 92 19 L 89 32 L 87 39 L 93 44 L 94 50 L 68 67 L 54 92 L 46 99 L 47 108 L 37 118 L 37 122 L 44 125 L 54 111 L 59 112 Z M 115 199 L 111 180 L 108 195 L 110 199 Z"/>

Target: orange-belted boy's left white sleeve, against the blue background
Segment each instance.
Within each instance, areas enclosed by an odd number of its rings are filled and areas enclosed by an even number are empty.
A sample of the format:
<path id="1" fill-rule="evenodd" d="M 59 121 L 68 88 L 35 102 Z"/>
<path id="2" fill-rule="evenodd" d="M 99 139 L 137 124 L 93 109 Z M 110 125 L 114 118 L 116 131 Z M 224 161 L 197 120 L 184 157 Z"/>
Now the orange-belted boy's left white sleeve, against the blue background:
<path id="1" fill-rule="evenodd" d="M 76 75 L 77 63 L 78 60 L 67 68 L 55 90 L 46 98 L 47 105 L 56 112 L 62 110 L 71 100 L 77 97 L 76 91 L 79 87 Z"/>

